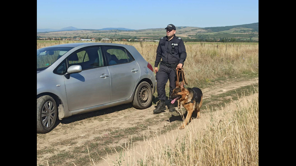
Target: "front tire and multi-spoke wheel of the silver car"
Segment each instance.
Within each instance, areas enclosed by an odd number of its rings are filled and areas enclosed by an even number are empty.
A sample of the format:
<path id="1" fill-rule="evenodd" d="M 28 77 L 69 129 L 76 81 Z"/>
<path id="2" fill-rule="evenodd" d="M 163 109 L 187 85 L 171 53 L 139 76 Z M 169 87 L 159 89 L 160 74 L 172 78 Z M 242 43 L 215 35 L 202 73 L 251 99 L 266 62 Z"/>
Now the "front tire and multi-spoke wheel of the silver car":
<path id="1" fill-rule="evenodd" d="M 57 106 L 50 96 L 41 96 L 37 99 L 37 133 L 50 132 L 57 118 Z"/>

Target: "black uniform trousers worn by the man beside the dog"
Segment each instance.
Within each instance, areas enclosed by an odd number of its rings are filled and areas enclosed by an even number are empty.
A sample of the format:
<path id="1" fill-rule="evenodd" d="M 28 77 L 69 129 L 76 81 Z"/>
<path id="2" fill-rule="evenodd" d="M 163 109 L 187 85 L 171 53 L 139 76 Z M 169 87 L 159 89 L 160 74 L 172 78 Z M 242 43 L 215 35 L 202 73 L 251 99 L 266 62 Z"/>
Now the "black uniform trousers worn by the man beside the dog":
<path id="1" fill-rule="evenodd" d="M 176 75 L 176 68 L 170 68 L 166 67 L 164 65 L 159 65 L 159 70 L 156 72 L 156 90 L 158 94 L 158 99 L 159 100 L 166 100 L 166 83 L 169 80 L 169 95 L 173 93 L 173 90 L 176 87 L 176 80 L 177 80 L 177 75 Z M 172 101 L 172 99 L 169 99 Z"/>

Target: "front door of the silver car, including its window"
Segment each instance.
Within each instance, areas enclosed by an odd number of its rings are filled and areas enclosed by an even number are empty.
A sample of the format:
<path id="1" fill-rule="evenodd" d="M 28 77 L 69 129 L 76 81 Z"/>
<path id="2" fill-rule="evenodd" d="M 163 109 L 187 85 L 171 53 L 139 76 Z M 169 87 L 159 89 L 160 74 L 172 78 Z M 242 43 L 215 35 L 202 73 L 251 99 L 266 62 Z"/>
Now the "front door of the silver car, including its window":
<path id="1" fill-rule="evenodd" d="M 73 52 L 68 65 L 81 65 L 82 71 L 65 78 L 69 110 L 78 110 L 111 101 L 111 84 L 108 67 L 103 61 L 100 46 L 87 47 Z"/>

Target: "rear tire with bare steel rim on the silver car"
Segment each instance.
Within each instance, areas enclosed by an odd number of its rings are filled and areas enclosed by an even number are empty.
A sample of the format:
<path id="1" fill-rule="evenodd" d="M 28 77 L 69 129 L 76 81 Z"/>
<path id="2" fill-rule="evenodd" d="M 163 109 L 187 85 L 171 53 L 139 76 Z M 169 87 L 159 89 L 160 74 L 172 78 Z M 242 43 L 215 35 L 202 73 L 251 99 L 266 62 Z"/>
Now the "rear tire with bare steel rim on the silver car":
<path id="1" fill-rule="evenodd" d="M 152 103 L 152 89 L 149 83 L 141 82 L 134 95 L 133 106 L 137 109 L 145 109 Z"/>

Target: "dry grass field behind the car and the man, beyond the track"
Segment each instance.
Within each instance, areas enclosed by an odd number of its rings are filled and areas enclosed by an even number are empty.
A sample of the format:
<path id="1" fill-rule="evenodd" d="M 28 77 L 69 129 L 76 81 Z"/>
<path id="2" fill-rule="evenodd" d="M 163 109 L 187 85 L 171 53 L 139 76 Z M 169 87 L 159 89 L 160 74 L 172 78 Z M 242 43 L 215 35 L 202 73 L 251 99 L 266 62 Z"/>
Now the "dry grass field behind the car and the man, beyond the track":
<path id="1" fill-rule="evenodd" d="M 37 49 L 73 42 L 82 41 L 37 41 Z M 134 46 L 154 66 L 158 43 L 118 41 L 113 43 Z M 259 43 L 196 42 L 185 43 L 185 47 L 187 58 L 184 70 L 189 86 L 210 83 L 219 78 L 259 74 Z"/>

